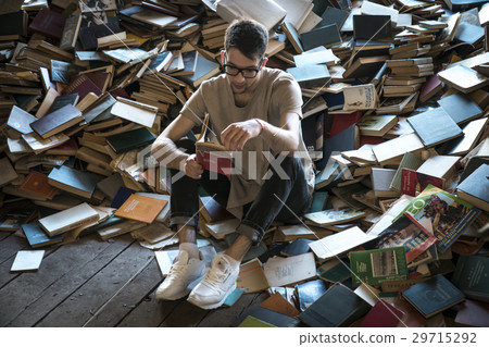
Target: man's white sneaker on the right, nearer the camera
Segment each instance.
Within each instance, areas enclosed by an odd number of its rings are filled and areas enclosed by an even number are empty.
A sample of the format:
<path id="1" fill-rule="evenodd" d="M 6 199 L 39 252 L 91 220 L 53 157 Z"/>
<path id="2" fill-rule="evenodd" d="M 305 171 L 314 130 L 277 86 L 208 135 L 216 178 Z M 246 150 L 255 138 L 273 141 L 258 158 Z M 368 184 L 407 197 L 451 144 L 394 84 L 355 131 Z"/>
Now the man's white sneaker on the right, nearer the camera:
<path id="1" fill-rule="evenodd" d="M 215 256 L 205 277 L 192 289 L 187 300 L 205 310 L 220 307 L 236 289 L 238 274 L 239 267 L 231 267 L 223 255 Z"/>

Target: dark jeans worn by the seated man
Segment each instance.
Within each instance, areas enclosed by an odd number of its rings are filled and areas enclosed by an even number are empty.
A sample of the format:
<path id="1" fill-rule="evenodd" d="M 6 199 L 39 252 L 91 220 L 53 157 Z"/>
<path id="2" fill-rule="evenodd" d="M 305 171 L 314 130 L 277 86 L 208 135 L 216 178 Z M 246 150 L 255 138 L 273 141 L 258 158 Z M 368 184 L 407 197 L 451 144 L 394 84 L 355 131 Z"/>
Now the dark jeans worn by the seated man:
<path id="1" fill-rule="evenodd" d="M 195 153 L 191 140 L 179 140 L 176 146 L 186 149 L 187 153 Z M 284 160 L 281 160 L 284 159 Z M 280 161 L 281 160 L 281 161 Z M 253 245 L 262 239 L 272 222 L 298 223 L 309 207 L 311 195 L 305 181 L 304 169 L 299 158 L 281 157 L 279 163 L 289 179 L 281 178 L 271 165 L 272 175 L 264 182 L 256 198 L 243 207 L 243 218 L 236 232 L 249 237 Z M 177 224 L 199 226 L 199 185 L 223 207 L 227 206 L 230 182 L 225 175 L 217 174 L 217 179 L 210 178 L 205 171 L 200 179 L 184 175 L 179 179 L 173 177 L 179 173 L 171 170 L 172 195 L 170 224 L 176 231 Z M 213 174 L 213 178 L 215 174 Z M 285 203 L 284 203 L 285 202 Z"/>

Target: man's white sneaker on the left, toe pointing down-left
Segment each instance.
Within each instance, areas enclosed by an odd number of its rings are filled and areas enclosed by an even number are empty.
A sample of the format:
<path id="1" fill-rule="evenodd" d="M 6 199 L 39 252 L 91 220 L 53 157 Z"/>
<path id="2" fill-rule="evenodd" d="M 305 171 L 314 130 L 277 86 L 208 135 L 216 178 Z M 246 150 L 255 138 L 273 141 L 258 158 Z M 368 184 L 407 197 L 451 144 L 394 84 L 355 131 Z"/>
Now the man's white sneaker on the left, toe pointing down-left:
<path id="1" fill-rule="evenodd" d="M 200 251 L 199 258 L 188 259 L 188 252 L 180 250 L 170 274 L 156 289 L 156 299 L 177 300 L 188 295 L 205 275 L 205 261 Z"/>

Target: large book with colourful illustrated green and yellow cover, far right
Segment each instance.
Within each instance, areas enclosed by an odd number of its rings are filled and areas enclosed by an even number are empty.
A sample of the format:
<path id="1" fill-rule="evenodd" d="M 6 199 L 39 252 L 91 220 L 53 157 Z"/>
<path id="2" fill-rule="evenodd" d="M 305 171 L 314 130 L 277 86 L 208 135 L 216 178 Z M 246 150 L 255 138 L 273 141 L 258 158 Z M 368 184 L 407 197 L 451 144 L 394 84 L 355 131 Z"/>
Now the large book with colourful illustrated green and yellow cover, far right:
<path id="1" fill-rule="evenodd" d="M 431 221 L 434 234 L 438 239 L 437 247 L 443 252 L 474 222 L 480 210 L 440 188 L 428 185 L 393 222 L 404 215 L 404 212 L 410 212 L 419 222 L 425 219 Z"/>

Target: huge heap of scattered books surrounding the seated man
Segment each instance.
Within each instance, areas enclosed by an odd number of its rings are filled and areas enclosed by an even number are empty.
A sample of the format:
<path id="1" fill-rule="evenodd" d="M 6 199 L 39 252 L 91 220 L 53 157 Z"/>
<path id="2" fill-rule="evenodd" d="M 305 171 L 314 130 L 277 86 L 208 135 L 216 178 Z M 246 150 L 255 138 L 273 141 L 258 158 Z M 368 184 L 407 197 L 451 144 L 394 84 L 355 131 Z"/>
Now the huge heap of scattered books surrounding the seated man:
<path id="1" fill-rule="evenodd" d="M 489 4 L 460 2 L 9 1 L 0 231 L 36 250 L 131 233 L 166 275 L 171 184 L 149 146 L 247 15 L 301 87 L 317 175 L 303 221 L 246 255 L 225 305 L 271 297 L 234 325 L 488 326 Z M 210 261 L 239 221 L 200 202 Z"/>

